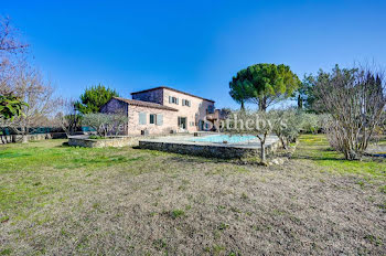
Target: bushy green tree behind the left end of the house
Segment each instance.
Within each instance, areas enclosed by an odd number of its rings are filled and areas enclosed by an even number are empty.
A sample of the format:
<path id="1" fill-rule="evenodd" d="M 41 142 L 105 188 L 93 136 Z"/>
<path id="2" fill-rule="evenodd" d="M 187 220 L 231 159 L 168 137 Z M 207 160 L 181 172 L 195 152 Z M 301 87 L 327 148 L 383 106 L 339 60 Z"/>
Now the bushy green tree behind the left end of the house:
<path id="1" fill-rule="evenodd" d="M 100 107 L 112 97 L 119 97 L 118 93 L 99 84 L 86 88 L 85 93 L 81 95 L 81 100 L 76 102 L 74 106 L 82 114 L 98 113 Z"/>

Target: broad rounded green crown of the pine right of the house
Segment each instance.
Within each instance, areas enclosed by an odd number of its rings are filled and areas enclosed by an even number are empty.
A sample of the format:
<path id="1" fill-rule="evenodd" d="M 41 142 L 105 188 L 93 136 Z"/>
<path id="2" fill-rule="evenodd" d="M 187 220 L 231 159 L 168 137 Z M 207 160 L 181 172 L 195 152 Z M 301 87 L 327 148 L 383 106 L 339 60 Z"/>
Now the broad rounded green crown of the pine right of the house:
<path id="1" fill-rule="evenodd" d="M 256 103 L 259 110 L 293 96 L 300 79 L 289 66 L 260 63 L 237 73 L 229 83 L 230 97 L 237 103 Z"/>

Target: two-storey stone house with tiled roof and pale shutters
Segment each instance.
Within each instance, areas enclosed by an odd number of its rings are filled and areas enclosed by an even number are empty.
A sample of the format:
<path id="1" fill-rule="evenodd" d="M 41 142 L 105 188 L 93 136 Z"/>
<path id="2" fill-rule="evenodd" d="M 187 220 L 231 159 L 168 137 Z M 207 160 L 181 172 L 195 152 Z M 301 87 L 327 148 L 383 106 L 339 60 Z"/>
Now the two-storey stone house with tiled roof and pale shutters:
<path id="1" fill-rule="evenodd" d="M 126 135 L 193 132 L 213 130 L 219 125 L 214 100 L 160 86 L 131 93 L 132 99 L 114 97 L 101 113 L 128 115 Z"/>

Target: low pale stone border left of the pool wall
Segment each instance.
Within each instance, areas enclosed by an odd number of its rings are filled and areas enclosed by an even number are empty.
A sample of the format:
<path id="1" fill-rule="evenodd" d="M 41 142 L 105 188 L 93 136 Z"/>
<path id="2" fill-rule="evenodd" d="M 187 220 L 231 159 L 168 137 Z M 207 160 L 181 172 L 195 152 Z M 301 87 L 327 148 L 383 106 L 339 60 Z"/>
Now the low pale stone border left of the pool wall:
<path id="1" fill-rule="evenodd" d="M 106 147 L 135 147 L 138 146 L 139 137 L 117 136 L 108 139 L 89 139 L 88 136 L 68 137 L 68 146 L 84 148 L 106 148 Z"/>

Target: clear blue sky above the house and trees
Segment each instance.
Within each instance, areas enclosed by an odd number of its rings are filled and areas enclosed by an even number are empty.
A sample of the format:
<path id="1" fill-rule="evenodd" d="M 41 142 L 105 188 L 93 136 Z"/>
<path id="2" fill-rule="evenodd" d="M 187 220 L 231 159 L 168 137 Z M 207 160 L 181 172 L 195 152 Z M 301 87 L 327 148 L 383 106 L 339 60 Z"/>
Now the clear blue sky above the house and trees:
<path id="1" fill-rule="evenodd" d="M 300 77 L 354 62 L 386 65 L 386 1 L 6 1 L 57 93 L 103 83 L 121 96 L 167 85 L 238 107 L 237 71 L 283 63 Z"/>

